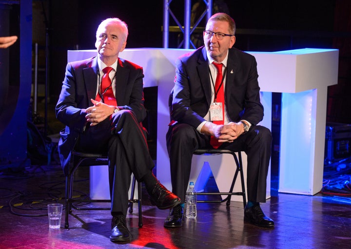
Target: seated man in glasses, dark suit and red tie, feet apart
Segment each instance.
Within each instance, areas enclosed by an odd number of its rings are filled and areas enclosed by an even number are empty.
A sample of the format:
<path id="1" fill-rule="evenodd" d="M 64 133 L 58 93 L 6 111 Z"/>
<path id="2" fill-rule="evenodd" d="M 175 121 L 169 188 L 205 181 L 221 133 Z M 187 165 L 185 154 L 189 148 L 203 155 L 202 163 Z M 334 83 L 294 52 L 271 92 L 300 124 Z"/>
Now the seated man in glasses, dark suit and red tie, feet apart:
<path id="1" fill-rule="evenodd" d="M 257 125 L 263 118 L 263 106 L 256 60 L 233 48 L 234 34 L 234 20 L 225 13 L 216 13 L 203 33 L 205 46 L 176 61 L 173 121 L 166 139 L 172 188 L 181 204 L 171 209 L 164 221 L 166 228 L 182 226 L 193 151 L 211 147 L 247 153 L 244 221 L 260 227 L 274 226 L 259 205 L 266 202 L 272 134 Z"/>

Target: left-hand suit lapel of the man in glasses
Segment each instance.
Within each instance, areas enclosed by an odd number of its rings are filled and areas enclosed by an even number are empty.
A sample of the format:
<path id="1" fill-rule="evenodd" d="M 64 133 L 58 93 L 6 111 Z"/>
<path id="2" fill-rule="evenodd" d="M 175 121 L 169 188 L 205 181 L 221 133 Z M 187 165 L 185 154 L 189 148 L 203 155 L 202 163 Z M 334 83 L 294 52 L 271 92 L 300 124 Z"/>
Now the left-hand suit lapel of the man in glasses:
<path id="1" fill-rule="evenodd" d="M 202 48 L 202 53 L 198 58 L 197 71 L 200 77 L 200 82 L 202 85 L 202 89 L 205 93 L 207 102 L 211 103 L 211 81 L 209 77 L 209 66 L 207 62 L 206 48 Z"/>

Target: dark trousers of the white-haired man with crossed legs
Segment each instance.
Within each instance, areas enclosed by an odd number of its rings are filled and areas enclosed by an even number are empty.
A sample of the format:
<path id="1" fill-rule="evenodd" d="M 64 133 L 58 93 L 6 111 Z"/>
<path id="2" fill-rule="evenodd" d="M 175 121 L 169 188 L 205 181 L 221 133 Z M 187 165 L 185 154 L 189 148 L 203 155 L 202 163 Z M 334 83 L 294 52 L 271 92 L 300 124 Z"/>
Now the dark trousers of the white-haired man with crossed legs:
<path id="1" fill-rule="evenodd" d="M 108 152 L 111 211 L 121 211 L 126 215 L 131 173 L 137 181 L 141 181 L 155 166 L 146 134 L 134 113 L 121 110 L 111 119 L 87 127 L 80 135 L 76 148 L 84 152 Z"/>

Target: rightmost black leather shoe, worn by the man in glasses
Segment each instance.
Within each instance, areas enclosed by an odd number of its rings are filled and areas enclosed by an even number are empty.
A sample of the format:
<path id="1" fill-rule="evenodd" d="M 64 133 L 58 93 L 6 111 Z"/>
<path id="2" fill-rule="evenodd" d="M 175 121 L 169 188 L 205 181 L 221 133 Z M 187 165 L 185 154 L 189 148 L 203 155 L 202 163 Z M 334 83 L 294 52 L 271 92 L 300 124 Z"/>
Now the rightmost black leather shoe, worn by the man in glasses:
<path id="1" fill-rule="evenodd" d="M 246 206 L 244 211 L 244 221 L 250 222 L 258 227 L 274 227 L 274 221 L 263 213 L 259 204 L 250 208 Z"/>

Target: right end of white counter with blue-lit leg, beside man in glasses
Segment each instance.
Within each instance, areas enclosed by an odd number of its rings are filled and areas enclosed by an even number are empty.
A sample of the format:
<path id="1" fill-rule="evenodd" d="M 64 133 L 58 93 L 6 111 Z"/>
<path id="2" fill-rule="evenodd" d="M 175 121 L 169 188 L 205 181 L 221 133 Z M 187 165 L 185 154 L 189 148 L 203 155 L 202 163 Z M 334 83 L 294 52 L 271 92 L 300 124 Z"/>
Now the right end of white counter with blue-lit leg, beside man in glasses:
<path id="1" fill-rule="evenodd" d="M 313 195 L 322 189 L 327 91 L 337 84 L 339 51 L 252 54 L 261 91 L 282 93 L 279 192 Z"/>

